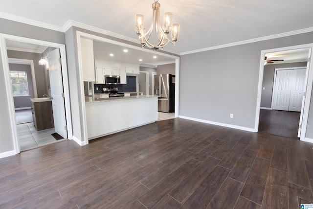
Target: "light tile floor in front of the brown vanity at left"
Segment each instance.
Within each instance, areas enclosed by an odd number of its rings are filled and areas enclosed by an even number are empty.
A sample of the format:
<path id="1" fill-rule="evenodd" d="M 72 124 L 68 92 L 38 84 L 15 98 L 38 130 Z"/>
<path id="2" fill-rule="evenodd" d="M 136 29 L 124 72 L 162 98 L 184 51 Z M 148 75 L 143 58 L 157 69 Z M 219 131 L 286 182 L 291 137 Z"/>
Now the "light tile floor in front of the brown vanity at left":
<path id="1" fill-rule="evenodd" d="M 18 124 L 17 127 L 21 151 L 65 140 L 56 140 L 51 136 L 55 133 L 54 128 L 37 131 L 33 122 Z"/>

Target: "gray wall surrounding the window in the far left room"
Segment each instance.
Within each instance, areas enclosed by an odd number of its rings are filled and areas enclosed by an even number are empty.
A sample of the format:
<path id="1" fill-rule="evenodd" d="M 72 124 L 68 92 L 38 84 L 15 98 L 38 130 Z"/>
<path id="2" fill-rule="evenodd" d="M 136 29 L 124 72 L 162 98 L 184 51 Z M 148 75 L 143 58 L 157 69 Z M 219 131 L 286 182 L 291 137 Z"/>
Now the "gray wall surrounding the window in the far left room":
<path id="1" fill-rule="evenodd" d="M 27 85 L 28 85 L 28 96 L 14 96 L 14 107 L 25 108 L 30 107 L 30 98 L 34 98 L 33 81 L 31 76 L 30 65 L 22 64 L 9 64 L 9 69 L 14 71 L 26 71 Z"/>

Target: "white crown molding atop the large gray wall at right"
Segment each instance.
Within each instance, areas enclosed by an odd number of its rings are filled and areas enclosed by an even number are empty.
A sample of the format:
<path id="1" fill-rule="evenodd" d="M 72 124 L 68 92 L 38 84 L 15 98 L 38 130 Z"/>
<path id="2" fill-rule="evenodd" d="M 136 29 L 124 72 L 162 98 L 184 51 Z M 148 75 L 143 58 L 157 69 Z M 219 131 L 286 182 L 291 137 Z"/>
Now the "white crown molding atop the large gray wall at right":
<path id="1" fill-rule="evenodd" d="M 240 41 L 240 42 L 234 42 L 234 43 L 230 43 L 230 44 L 224 44 L 224 45 L 219 45 L 219 46 L 212 46 L 212 47 L 201 48 L 201 49 L 196 49 L 196 50 L 191 50 L 191 51 L 185 51 L 185 52 L 181 52 L 179 55 L 193 54 L 193 53 L 198 53 L 198 52 L 202 52 L 202 51 L 209 51 L 209 50 L 225 48 L 225 47 L 230 47 L 230 46 L 250 44 L 250 43 L 254 43 L 254 42 L 266 41 L 266 40 L 270 40 L 270 39 L 282 38 L 282 37 L 286 37 L 286 36 L 292 36 L 292 35 L 297 35 L 297 34 L 301 34 L 301 33 L 308 33 L 308 32 L 313 32 L 313 27 L 308 27 L 308 28 L 304 28 L 304 29 L 300 29 L 300 30 L 293 30 L 290 32 L 279 33 L 279 34 L 270 35 L 270 36 L 264 36 L 264 37 L 255 38 L 255 39 L 249 39 L 249 40 Z"/>

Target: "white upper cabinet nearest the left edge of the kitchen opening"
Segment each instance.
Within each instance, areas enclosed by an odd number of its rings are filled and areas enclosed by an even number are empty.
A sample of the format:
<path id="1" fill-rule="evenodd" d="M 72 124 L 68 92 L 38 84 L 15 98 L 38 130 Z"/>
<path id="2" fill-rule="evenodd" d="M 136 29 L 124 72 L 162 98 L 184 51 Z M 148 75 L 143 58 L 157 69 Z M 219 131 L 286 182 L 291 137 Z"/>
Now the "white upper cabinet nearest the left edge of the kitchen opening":
<path id="1" fill-rule="evenodd" d="M 95 81 L 94 60 L 93 60 L 93 41 L 86 38 L 80 39 L 81 58 L 83 67 L 83 80 Z"/>

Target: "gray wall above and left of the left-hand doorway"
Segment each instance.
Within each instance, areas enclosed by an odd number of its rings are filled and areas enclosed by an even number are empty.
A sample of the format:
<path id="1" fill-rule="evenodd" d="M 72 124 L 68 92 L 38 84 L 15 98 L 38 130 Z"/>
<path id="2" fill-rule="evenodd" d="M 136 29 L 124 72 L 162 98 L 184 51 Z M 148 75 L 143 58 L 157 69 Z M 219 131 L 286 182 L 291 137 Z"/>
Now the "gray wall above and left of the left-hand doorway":
<path id="1" fill-rule="evenodd" d="M 65 34 L 62 32 L 49 30 L 37 26 L 32 26 L 24 23 L 18 23 L 0 18 L 0 33 L 21 36 L 31 39 L 43 40 L 53 43 L 65 44 Z M 37 62 L 38 63 L 38 62 Z M 14 151 L 14 143 L 12 130 L 13 127 L 9 123 L 9 106 L 7 101 L 4 71 L 2 60 L 0 60 L 0 154 Z M 35 62 L 34 62 L 35 64 Z M 38 93 L 38 95 L 40 95 Z"/>

